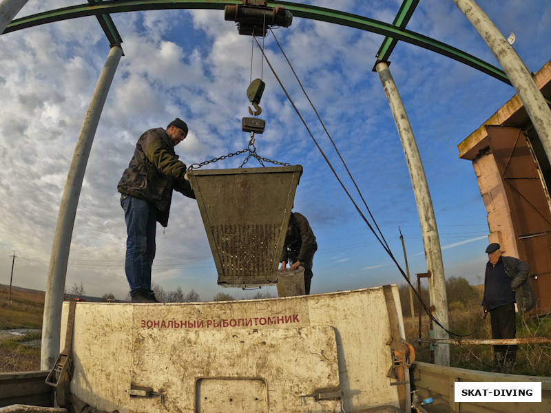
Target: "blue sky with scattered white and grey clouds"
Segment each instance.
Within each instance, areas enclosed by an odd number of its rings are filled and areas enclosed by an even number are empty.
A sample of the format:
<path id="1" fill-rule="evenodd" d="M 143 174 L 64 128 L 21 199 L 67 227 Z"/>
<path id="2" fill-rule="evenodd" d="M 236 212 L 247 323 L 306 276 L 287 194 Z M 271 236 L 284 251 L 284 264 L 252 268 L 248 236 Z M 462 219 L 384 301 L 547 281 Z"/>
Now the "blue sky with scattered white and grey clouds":
<path id="1" fill-rule="evenodd" d="M 82 1 L 29 1 L 17 17 Z M 391 23 L 401 1 L 304 1 Z M 531 72 L 551 59 L 551 3 L 479 0 Z M 335 6 L 336 5 L 336 6 Z M 116 184 L 143 131 L 176 116 L 189 136 L 176 147 L 187 165 L 245 149 L 249 135 L 251 38 L 222 10 L 113 14 L 125 56 L 118 65 L 87 166 L 67 268 L 68 287 L 87 295 L 127 295 L 125 224 Z M 488 47 L 453 1 L 423 0 L 408 29 L 493 65 Z M 413 189 L 379 77 L 371 69 L 383 36 L 330 23 L 293 19 L 275 36 L 293 64 L 357 182 L 398 262 L 426 272 Z M 346 187 L 353 186 L 272 36 L 267 56 Z M 0 283 L 44 289 L 63 186 L 76 138 L 109 44 L 94 17 L 50 23 L 0 36 Z M 514 94 L 495 78 L 444 56 L 398 43 L 391 72 L 404 100 L 433 198 L 446 277 L 479 284 L 487 260 L 486 210 L 475 172 L 457 145 Z M 401 284 L 386 255 L 324 162 L 269 67 L 253 52 L 252 76 L 266 83 L 257 135 L 260 156 L 304 167 L 295 211 L 318 239 L 312 293 Z M 237 167 L 242 158 L 209 167 Z M 252 162 L 252 161 L 249 161 Z M 7 167 L 6 167 L 7 166 Z M 260 167 L 260 164 L 257 165 Z M 356 196 L 357 198 L 357 196 Z M 358 198 L 357 198 L 358 199 Z M 365 212 L 364 212 L 365 213 Z M 404 266 L 405 271 L 405 266 Z M 158 227 L 153 280 L 165 290 L 194 289 L 249 297 L 258 290 L 222 288 L 197 204 L 174 196 L 169 226 Z M 276 295 L 275 287 L 262 289 Z"/>

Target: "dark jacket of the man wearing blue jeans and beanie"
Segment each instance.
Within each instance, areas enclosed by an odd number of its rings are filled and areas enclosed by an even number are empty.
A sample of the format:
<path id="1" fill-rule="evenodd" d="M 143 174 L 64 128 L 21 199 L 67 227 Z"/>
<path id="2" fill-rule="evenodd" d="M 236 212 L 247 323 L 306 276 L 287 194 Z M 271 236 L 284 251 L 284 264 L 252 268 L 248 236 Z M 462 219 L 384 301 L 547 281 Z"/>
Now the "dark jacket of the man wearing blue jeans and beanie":
<path id="1" fill-rule="evenodd" d="M 195 198 L 191 185 L 183 178 L 185 170 L 185 163 L 178 160 L 165 129 L 149 129 L 138 139 L 134 156 L 117 189 L 153 204 L 157 209 L 157 221 L 167 226 L 172 191 L 175 189 Z"/>

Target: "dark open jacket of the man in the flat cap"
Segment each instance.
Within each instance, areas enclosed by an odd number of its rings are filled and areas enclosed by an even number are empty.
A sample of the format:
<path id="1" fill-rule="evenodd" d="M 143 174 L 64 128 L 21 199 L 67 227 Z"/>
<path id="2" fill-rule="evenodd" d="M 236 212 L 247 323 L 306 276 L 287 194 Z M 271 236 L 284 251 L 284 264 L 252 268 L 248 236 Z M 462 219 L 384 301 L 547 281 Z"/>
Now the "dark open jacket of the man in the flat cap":
<path id="1" fill-rule="evenodd" d="M 528 281 L 528 273 L 530 273 L 530 266 L 518 258 L 506 257 L 501 255 L 500 260 L 503 260 L 503 268 L 506 275 L 511 279 L 511 290 L 514 292 L 514 298 L 517 302 L 517 308 L 519 313 L 524 314 L 527 311 L 532 310 L 536 306 L 536 297 Z M 484 277 L 484 290 L 486 293 L 486 278 L 488 277 L 488 271 Z M 485 294 L 486 295 L 486 294 Z M 484 310 L 488 311 L 488 303 L 486 299 L 483 299 L 482 305 Z"/>

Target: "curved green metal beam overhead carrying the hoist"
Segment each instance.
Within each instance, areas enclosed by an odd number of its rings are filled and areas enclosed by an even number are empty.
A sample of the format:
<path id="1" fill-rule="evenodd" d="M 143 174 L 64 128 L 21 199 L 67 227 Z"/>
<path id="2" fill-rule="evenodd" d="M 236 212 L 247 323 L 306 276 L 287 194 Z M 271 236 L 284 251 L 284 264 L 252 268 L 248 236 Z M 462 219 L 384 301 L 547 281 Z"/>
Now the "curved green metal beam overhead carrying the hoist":
<path id="1" fill-rule="evenodd" d="M 392 39 L 405 41 L 424 49 L 436 52 L 443 56 L 454 59 L 464 63 L 476 70 L 489 74 L 490 76 L 497 78 L 499 81 L 508 83 L 510 81 L 508 76 L 503 70 L 478 59 L 471 54 L 463 52 L 456 47 L 447 45 L 435 39 L 431 39 L 428 36 L 406 30 L 405 28 L 399 28 L 396 25 L 384 23 L 368 17 L 362 17 L 357 14 L 351 14 L 346 12 L 340 12 L 328 8 L 322 8 L 318 6 L 309 6 L 300 3 L 291 3 L 289 1 L 268 1 L 268 6 L 275 7 L 278 5 L 285 6 L 285 8 L 293 13 L 294 17 L 303 17 L 305 19 L 313 19 L 318 21 L 326 21 L 328 23 L 335 23 L 338 25 L 349 26 L 351 28 L 357 28 L 365 30 L 367 32 L 373 32 L 376 34 L 382 34 Z M 30 28 L 45 23 L 52 23 L 54 21 L 62 21 L 68 19 L 74 19 L 76 17 L 96 16 L 101 21 L 101 17 L 108 17 L 110 13 L 120 12 L 135 12 L 144 10 L 168 10 L 168 9 L 205 9 L 205 10 L 221 10 L 227 5 L 242 4 L 240 0 L 109 0 L 109 1 L 97 1 L 90 4 L 81 4 L 76 6 L 69 6 L 65 8 L 59 8 L 50 10 L 48 12 L 42 12 L 38 14 L 32 14 L 28 17 L 21 19 L 15 19 L 12 21 L 4 33 L 15 32 L 24 28 Z M 109 20 L 110 19 L 106 19 Z M 118 44 L 121 42 L 118 33 L 114 25 L 110 25 L 108 30 L 104 30 L 112 44 Z M 111 34 L 111 36 L 110 36 Z"/>

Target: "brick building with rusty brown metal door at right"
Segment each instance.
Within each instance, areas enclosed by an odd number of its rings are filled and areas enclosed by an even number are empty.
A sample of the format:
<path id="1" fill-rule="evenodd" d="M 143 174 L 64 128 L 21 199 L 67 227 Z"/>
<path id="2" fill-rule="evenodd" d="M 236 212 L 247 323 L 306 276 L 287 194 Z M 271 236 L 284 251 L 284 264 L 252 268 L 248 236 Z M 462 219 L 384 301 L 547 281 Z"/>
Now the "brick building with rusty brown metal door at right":
<path id="1" fill-rule="evenodd" d="M 551 61 L 533 75 L 551 101 Z M 472 161 L 486 211 L 488 242 L 530 264 L 538 299 L 530 315 L 551 312 L 551 164 L 515 95 L 458 146 Z"/>

